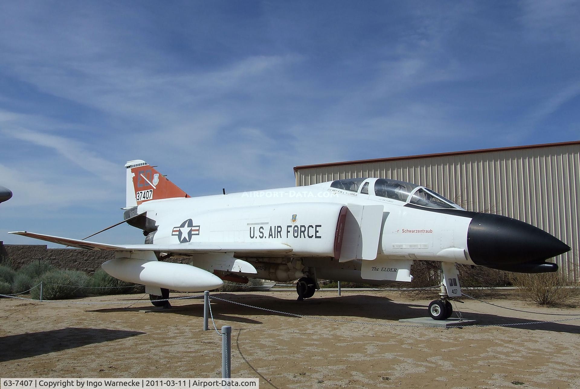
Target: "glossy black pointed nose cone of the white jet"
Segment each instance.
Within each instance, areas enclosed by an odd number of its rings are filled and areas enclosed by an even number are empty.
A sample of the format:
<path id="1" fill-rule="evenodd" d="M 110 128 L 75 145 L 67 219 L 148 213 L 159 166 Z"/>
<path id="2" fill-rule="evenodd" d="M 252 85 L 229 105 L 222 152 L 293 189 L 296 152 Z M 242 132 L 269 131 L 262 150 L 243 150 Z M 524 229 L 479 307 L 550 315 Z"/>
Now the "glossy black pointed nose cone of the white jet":
<path id="1" fill-rule="evenodd" d="M 501 215 L 478 213 L 467 230 L 467 251 L 477 265 L 523 273 L 554 272 L 556 264 L 544 262 L 570 251 L 549 233 Z"/>

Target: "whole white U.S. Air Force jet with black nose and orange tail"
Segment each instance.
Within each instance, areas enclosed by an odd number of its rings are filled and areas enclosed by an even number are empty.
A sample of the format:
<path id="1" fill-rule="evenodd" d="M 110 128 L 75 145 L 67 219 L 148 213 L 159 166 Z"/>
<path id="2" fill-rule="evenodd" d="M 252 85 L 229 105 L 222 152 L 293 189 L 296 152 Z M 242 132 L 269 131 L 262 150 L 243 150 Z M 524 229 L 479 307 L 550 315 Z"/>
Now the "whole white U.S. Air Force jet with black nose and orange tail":
<path id="1" fill-rule="evenodd" d="M 144 284 L 158 306 L 167 304 L 158 300 L 167 299 L 170 289 L 213 290 L 223 280 L 248 278 L 298 280 L 303 300 L 320 289 L 318 279 L 410 282 L 413 261 L 438 261 L 440 293 L 429 314 L 439 320 L 451 315 L 449 300 L 462 295 L 456 264 L 554 272 L 557 264 L 545 260 L 570 250 L 535 226 L 466 211 L 425 186 L 394 179 L 190 197 L 145 161 L 129 161 L 125 168 L 124 222 L 143 230 L 144 244 L 12 233 L 113 250 L 104 271 Z M 168 257 L 189 258 L 192 265 L 165 262 Z"/>

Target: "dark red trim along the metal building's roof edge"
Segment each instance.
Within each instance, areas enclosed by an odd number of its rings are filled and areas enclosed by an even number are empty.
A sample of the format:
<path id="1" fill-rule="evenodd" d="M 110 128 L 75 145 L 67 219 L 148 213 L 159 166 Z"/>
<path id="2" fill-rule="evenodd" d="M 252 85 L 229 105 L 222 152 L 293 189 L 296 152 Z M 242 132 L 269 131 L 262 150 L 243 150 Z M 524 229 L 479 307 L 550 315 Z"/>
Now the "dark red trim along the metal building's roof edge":
<path id="1" fill-rule="evenodd" d="M 542 145 L 499 147 L 498 149 L 467 150 L 467 151 L 463 151 L 463 152 L 451 152 L 451 153 L 420 154 L 420 155 L 416 155 L 416 156 L 376 158 L 376 159 L 371 159 L 371 160 L 343 161 L 343 162 L 332 162 L 332 163 L 324 163 L 324 164 L 316 164 L 316 165 L 302 165 L 302 166 L 295 166 L 294 172 L 296 173 L 296 171 L 303 170 L 303 169 L 323 168 L 323 167 L 332 167 L 332 166 L 360 165 L 360 164 L 376 163 L 376 162 L 405 161 L 405 160 L 415 160 L 415 159 L 434 158 L 434 157 L 449 157 L 449 156 L 461 156 L 461 155 L 468 155 L 468 154 L 507 152 L 507 151 L 512 151 L 512 150 L 543 149 L 545 147 L 573 146 L 573 145 L 580 145 L 580 141 L 559 142 L 559 143 L 543 143 Z"/>

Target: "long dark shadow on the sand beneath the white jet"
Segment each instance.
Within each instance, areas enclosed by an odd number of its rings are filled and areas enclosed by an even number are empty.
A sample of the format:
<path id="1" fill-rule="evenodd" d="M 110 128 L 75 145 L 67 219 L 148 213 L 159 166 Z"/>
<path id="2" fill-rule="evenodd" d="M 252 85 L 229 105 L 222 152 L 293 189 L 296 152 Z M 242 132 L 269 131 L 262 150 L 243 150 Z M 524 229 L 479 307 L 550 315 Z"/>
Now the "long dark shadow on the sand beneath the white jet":
<path id="1" fill-rule="evenodd" d="M 290 314 L 307 316 L 319 316 L 321 318 L 324 318 L 325 316 L 333 316 L 333 318 L 337 319 L 346 319 L 359 322 L 364 319 L 379 319 L 386 320 L 386 322 L 393 322 L 393 324 L 398 324 L 397 320 L 399 319 L 429 316 L 427 313 L 426 305 L 405 304 L 402 302 L 394 302 L 386 297 L 366 296 L 364 294 L 349 294 L 348 296 L 340 297 L 310 298 L 305 301 L 289 300 L 287 298 L 278 298 L 261 294 L 212 293 L 212 296 L 223 298 L 224 300 L 241 302 L 242 304 L 253 305 L 255 307 L 270 309 L 271 311 L 288 312 Z M 289 318 L 295 318 L 296 320 L 312 320 L 309 318 L 299 318 L 296 316 L 289 316 L 277 312 L 266 311 L 264 309 L 245 307 L 243 305 L 233 304 L 232 302 L 228 301 L 216 300 L 215 298 L 211 299 L 211 302 L 213 317 L 215 320 L 220 321 L 225 320 L 231 322 L 261 324 L 262 322 L 259 322 L 258 320 L 249 319 L 249 317 L 254 315 L 287 316 Z M 454 310 L 456 310 L 456 307 L 459 307 L 461 310 L 462 305 L 463 304 L 454 304 Z M 143 308 L 97 309 L 94 312 L 119 312 L 127 309 L 131 311 L 139 311 Z M 201 301 L 198 301 L 195 304 L 181 305 L 179 307 L 165 311 L 160 310 L 159 312 L 164 312 L 166 314 L 198 316 L 201 318 L 204 315 L 204 306 Z M 461 312 L 461 314 L 464 319 L 477 320 L 478 325 L 502 324 L 509 325 L 506 326 L 507 328 L 543 330 L 574 334 L 580 333 L 580 326 L 572 324 L 539 323 L 516 325 L 517 323 L 532 323 L 545 319 L 528 320 L 514 318 L 506 315 L 493 315 L 475 312 Z M 456 317 L 455 312 L 453 317 Z M 545 318 L 546 316 L 541 317 Z M 570 316 L 553 316 L 553 320 L 560 320 L 568 317 Z M 220 323 L 220 325 L 222 324 L 223 321 Z M 218 325 L 218 323 L 216 323 L 216 325 Z"/>

